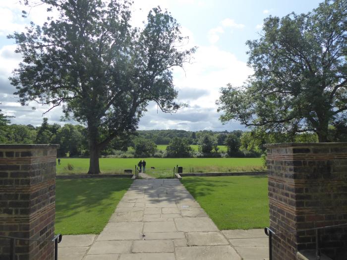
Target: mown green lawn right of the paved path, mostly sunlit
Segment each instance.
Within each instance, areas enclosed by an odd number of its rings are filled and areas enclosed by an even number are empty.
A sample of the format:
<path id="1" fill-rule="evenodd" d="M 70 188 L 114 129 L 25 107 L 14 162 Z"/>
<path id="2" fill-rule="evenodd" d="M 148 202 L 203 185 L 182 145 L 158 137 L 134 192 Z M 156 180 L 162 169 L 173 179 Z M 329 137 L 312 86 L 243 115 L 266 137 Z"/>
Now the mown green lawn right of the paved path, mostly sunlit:
<path id="1" fill-rule="evenodd" d="M 267 176 L 184 177 L 181 182 L 219 229 L 269 226 Z"/>

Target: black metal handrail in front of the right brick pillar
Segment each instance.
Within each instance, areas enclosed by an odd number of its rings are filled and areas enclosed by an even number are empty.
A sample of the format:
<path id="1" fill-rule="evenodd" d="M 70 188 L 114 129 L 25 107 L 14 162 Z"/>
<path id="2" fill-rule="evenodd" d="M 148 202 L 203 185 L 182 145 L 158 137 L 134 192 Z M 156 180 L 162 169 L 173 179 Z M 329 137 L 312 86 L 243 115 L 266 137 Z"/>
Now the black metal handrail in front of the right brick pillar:
<path id="1" fill-rule="evenodd" d="M 284 231 L 284 232 L 274 232 L 269 227 L 264 228 L 265 234 L 269 236 L 269 260 L 272 260 L 272 240 L 274 237 L 280 234 L 290 234 L 290 233 L 297 233 L 302 231 L 315 231 L 315 255 L 316 259 L 321 259 L 321 247 L 320 247 L 320 230 L 322 229 L 329 229 L 329 228 L 335 228 L 335 227 L 342 227 L 347 226 L 346 224 L 339 224 L 339 225 L 332 225 L 332 226 L 324 226 L 324 227 L 315 227 L 315 228 L 308 228 L 308 229 L 300 229 L 300 230 L 290 230 L 290 231 Z"/>

